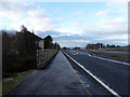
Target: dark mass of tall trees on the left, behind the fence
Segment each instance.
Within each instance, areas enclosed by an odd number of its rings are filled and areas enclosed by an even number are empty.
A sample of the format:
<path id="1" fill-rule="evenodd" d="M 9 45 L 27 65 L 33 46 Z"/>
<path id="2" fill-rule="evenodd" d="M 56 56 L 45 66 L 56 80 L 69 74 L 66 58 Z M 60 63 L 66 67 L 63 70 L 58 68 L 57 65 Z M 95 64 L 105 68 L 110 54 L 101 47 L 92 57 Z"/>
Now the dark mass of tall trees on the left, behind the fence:
<path id="1" fill-rule="evenodd" d="M 37 50 L 39 41 L 44 40 L 46 50 L 60 50 L 57 43 L 53 43 L 51 36 L 44 39 L 36 36 L 22 26 L 22 30 L 15 33 L 2 31 L 2 70 L 3 72 L 20 72 L 37 67 Z"/>

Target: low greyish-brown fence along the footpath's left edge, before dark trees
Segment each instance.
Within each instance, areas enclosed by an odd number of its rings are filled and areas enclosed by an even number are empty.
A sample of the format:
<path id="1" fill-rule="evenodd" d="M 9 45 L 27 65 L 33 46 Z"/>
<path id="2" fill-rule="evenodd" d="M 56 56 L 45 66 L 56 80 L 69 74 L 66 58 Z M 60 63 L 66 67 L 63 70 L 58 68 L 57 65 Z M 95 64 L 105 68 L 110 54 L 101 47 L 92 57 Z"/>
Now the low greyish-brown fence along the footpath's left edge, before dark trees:
<path id="1" fill-rule="evenodd" d="M 56 53 L 56 50 L 37 50 L 37 69 L 46 67 Z"/>

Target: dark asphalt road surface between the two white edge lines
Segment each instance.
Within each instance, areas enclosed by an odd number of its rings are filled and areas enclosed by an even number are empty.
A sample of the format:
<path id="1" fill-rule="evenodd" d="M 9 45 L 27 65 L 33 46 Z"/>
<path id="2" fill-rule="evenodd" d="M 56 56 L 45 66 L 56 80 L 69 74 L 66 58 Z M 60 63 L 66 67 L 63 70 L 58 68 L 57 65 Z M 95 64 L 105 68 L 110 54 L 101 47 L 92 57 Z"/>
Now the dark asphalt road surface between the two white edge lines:
<path id="1" fill-rule="evenodd" d="M 63 51 L 119 95 L 128 95 L 129 65 L 91 57 L 87 52 Z M 129 80 L 129 81 L 128 81 Z M 96 88 L 94 88 L 96 89 Z"/>

